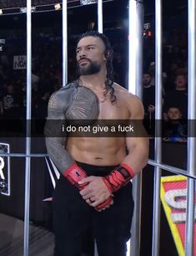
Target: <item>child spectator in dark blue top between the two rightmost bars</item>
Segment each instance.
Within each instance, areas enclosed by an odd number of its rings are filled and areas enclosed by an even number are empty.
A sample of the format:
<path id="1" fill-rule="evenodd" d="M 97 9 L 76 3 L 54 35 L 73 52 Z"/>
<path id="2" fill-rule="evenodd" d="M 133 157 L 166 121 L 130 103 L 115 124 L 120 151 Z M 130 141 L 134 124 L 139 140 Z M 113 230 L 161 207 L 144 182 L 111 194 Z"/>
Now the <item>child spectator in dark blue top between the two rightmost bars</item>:
<path id="1" fill-rule="evenodd" d="M 186 142 L 187 123 L 182 120 L 180 110 L 174 107 L 169 108 L 167 120 L 163 124 L 163 141 Z"/>

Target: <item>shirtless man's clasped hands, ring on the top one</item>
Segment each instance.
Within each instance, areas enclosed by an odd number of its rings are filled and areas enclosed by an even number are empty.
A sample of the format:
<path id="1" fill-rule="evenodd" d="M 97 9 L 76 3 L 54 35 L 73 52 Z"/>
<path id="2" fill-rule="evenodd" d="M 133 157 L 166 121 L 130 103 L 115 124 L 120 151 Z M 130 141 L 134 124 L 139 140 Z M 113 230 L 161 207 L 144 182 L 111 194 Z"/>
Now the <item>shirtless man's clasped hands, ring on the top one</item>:
<path id="1" fill-rule="evenodd" d="M 85 183 L 88 185 L 86 185 L 86 187 L 80 191 L 80 195 L 89 206 L 97 207 L 100 203 L 106 201 L 108 197 L 113 197 L 113 194 L 111 195 L 111 193 L 108 191 L 108 187 L 103 182 L 102 177 L 84 177 L 80 182 L 78 182 L 79 186 L 83 186 Z M 98 210 L 98 212 L 107 209 L 111 205 L 113 205 L 113 199 L 106 207 Z"/>

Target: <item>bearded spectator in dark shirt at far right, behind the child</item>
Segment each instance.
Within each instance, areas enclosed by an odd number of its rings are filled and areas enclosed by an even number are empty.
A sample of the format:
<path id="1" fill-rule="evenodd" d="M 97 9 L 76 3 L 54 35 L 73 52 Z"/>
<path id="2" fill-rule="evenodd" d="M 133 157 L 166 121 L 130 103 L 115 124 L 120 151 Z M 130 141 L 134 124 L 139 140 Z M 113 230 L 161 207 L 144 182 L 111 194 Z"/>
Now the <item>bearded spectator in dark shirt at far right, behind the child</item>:
<path id="1" fill-rule="evenodd" d="M 185 74 L 178 74 L 174 81 L 175 89 L 166 93 L 163 105 L 164 119 L 167 119 L 167 110 L 171 107 L 178 108 L 182 118 L 187 119 L 187 78 Z"/>

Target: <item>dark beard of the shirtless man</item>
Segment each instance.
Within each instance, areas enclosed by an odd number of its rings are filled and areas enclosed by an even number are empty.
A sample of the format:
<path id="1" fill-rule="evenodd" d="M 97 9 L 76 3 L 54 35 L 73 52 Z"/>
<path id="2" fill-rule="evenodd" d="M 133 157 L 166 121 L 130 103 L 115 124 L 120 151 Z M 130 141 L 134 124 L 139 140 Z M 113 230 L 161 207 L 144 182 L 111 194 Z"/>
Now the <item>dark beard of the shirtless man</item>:
<path id="1" fill-rule="evenodd" d="M 98 64 L 97 61 L 92 61 L 88 59 L 89 64 L 85 66 L 80 66 L 78 64 L 77 74 L 80 75 L 90 75 L 97 74 L 101 70 L 101 64 Z"/>

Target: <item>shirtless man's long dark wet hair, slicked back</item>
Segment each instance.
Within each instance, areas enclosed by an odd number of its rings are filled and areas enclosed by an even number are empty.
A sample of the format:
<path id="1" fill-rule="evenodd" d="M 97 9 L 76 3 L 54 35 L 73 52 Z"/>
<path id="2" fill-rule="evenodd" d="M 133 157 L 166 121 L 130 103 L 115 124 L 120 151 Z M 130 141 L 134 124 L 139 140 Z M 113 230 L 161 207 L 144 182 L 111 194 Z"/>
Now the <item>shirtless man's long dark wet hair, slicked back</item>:
<path id="1" fill-rule="evenodd" d="M 82 36 L 78 39 L 78 42 L 82 38 L 87 38 L 87 37 L 100 38 L 103 41 L 103 44 L 105 45 L 104 55 L 105 55 L 105 58 L 107 59 L 107 63 L 106 63 L 107 76 L 105 80 L 106 88 L 103 94 L 106 96 L 109 92 L 110 100 L 112 103 L 114 103 L 117 97 L 114 95 L 114 89 L 113 89 L 113 49 L 111 47 L 111 44 L 108 38 L 103 33 L 99 33 L 98 31 L 93 31 L 93 30 L 83 33 Z"/>

